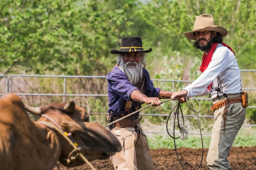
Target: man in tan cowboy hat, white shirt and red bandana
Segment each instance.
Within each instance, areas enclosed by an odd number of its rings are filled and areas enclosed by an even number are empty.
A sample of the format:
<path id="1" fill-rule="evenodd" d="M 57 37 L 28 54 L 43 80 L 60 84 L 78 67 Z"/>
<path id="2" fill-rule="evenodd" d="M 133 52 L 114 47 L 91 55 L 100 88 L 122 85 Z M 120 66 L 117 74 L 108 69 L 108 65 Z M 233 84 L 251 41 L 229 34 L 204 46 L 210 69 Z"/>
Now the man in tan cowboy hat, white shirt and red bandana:
<path id="1" fill-rule="evenodd" d="M 182 91 L 172 94 L 180 97 L 211 94 L 215 124 L 207 154 L 207 166 L 213 170 L 230 170 L 227 160 L 231 146 L 245 119 L 241 99 L 241 76 L 234 51 L 223 42 L 227 30 L 216 26 L 210 14 L 196 16 L 193 31 L 184 33 L 193 45 L 204 52 L 201 76 Z"/>

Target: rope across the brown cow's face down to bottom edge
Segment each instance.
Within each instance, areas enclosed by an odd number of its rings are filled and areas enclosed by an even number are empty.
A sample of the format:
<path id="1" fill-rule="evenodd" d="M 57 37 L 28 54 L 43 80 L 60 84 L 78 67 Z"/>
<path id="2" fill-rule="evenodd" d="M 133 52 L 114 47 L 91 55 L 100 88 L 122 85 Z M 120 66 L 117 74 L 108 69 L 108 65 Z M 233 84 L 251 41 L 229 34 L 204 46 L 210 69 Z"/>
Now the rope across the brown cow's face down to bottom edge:
<path id="1" fill-rule="evenodd" d="M 52 128 L 52 129 L 58 131 L 58 133 L 60 133 L 60 134 L 64 137 L 64 139 L 66 139 L 67 142 L 69 142 L 69 143 L 71 144 L 71 146 L 72 146 L 74 149 L 79 149 L 79 147 L 76 147 L 76 145 L 73 144 L 73 142 L 72 142 L 67 136 L 65 136 L 65 134 L 64 134 L 63 132 L 61 132 L 61 130 L 60 130 L 58 127 L 56 127 L 55 125 L 53 125 L 53 124 L 50 123 L 50 122 L 42 121 L 42 122 L 40 122 L 40 123 L 42 123 L 42 124 L 44 124 L 44 125 L 46 125 L 46 126 Z M 83 159 L 84 162 L 87 163 L 87 164 L 89 165 L 89 167 L 90 167 L 92 170 L 96 170 L 96 169 L 93 167 L 93 165 L 84 157 L 83 154 L 81 154 L 81 153 L 78 153 L 78 154 L 79 154 L 79 156 L 81 157 L 81 159 Z"/>

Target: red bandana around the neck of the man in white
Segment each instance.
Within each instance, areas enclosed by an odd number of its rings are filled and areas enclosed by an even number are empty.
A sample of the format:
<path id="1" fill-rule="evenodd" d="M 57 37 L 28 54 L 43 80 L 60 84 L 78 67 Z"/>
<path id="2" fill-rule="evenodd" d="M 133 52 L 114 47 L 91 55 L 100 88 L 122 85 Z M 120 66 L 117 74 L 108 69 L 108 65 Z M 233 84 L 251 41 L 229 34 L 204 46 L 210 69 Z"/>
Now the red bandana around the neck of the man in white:
<path id="1" fill-rule="evenodd" d="M 232 51 L 235 55 L 235 52 L 232 50 L 232 48 L 230 48 L 227 44 L 225 44 L 224 42 L 221 42 L 222 45 L 224 45 L 225 47 L 227 47 L 228 49 L 230 49 L 230 51 Z M 212 61 L 212 55 L 217 47 L 218 43 L 213 43 L 212 44 L 212 48 L 210 49 L 209 53 L 206 55 L 204 52 L 204 56 L 203 56 L 203 60 L 202 60 L 202 64 L 200 67 L 200 71 L 202 73 L 204 73 L 204 71 L 207 69 L 209 63 Z M 209 91 L 211 90 L 211 85 L 212 83 L 207 87 L 209 89 Z"/>

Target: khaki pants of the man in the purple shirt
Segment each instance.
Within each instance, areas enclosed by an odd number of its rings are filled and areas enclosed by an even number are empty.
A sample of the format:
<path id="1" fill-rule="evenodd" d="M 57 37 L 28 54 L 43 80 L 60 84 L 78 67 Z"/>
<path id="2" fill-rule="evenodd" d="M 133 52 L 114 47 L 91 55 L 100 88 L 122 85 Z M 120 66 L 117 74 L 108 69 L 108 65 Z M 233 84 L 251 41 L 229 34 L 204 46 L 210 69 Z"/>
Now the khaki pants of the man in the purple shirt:
<path id="1" fill-rule="evenodd" d="M 114 170 L 154 170 L 147 138 L 140 124 L 138 128 L 139 140 L 134 127 L 114 127 L 111 130 L 122 146 L 121 152 L 110 157 Z"/>

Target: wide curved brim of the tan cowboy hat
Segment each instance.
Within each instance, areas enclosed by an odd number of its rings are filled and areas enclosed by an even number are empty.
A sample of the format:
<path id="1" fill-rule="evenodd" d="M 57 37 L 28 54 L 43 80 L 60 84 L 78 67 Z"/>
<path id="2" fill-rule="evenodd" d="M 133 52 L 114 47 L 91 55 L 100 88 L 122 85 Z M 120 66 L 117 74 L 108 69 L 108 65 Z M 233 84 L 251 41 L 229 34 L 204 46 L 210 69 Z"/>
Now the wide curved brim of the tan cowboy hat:
<path id="1" fill-rule="evenodd" d="M 195 29 L 193 31 L 189 31 L 189 32 L 185 32 L 183 33 L 188 39 L 190 40 L 196 40 L 195 39 L 195 34 L 194 32 L 196 31 L 215 31 L 221 34 L 221 37 L 225 37 L 227 35 L 227 30 L 226 28 L 222 27 L 222 26 L 207 26 L 205 28 L 199 28 L 199 29 Z"/>

